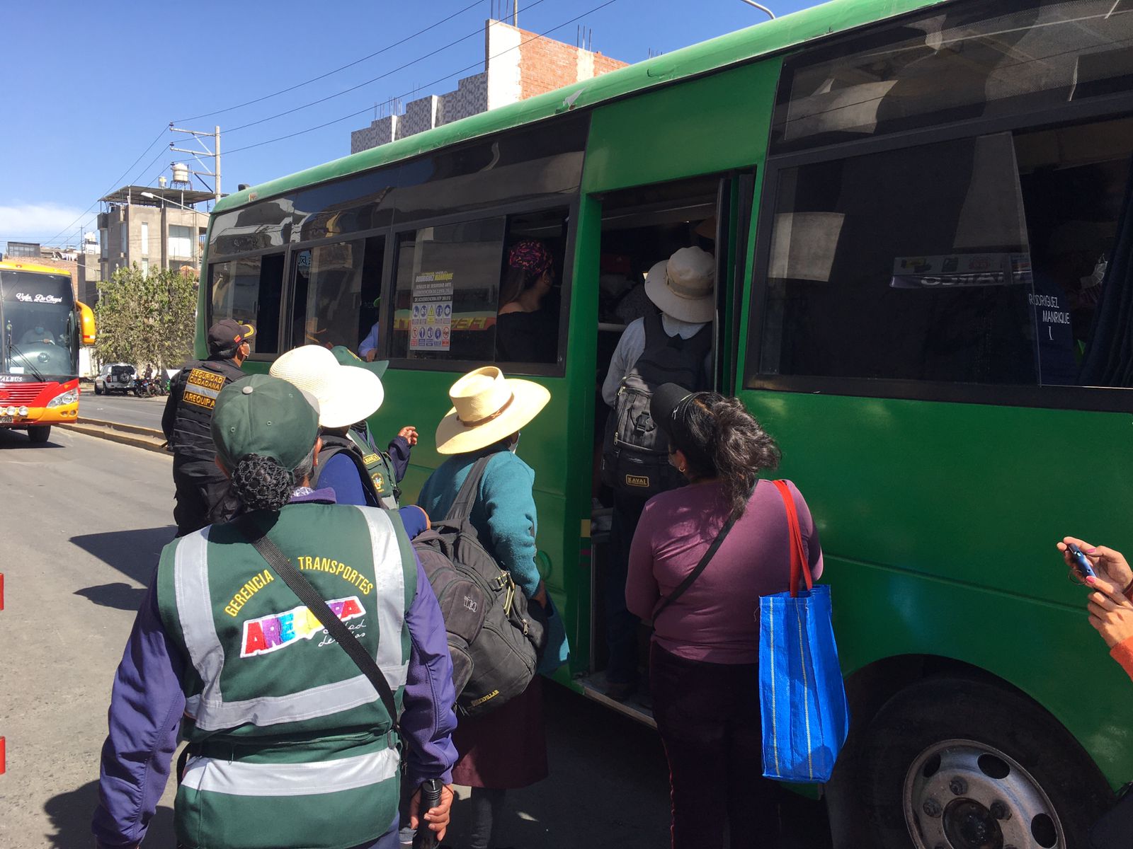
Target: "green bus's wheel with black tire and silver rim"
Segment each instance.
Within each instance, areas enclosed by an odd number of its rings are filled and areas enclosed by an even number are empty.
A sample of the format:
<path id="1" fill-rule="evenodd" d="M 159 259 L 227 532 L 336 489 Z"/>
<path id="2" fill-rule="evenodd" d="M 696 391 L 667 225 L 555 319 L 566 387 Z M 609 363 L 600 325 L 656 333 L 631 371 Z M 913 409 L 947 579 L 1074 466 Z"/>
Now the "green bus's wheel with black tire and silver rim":
<path id="1" fill-rule="evenodd" d="M 1050 714 L 1007 687 L 959 677 L 926 678 L 886 702 L 858 775 L 876 849 L 1088 849 L 1090 826 L 1114 801 Z"/>

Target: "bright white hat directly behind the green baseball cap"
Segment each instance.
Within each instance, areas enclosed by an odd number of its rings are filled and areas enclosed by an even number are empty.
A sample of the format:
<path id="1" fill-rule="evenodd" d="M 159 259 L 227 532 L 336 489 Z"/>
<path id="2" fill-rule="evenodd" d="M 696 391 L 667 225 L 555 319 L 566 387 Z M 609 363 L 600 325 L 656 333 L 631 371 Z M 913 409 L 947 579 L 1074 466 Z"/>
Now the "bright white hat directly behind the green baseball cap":
<path id="1" fill-rule="evenodd" d="M 322 345 L 292 349 L 272 363 L 272 377 L 280 377 L 318 398 L 318 423 L 344 428 L 372 415 L 382 405 L 385 392 L 373 371 L 340 366 Z"/>

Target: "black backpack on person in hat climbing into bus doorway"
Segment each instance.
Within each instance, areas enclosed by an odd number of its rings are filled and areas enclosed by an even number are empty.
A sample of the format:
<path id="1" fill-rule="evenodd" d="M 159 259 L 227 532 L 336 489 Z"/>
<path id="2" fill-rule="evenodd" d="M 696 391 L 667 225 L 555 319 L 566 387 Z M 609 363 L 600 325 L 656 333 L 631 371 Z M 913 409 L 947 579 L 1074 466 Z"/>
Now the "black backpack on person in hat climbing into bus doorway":
<path id="1" fill-rule="evenodd" d="M 649 414 L 654 389 L 662 384 L 678 384 L 690 392 L 707 388 L 704 362 L 712 351 L 713 327 L 706 324 L 684 340 L 665 333 L 656 310 L 642 320 L 645 350 L 622 378 L 606 419 L 602 482 L 616 492 L 646 499 L 683 483 L 668 464 L 668 438 Z"/>

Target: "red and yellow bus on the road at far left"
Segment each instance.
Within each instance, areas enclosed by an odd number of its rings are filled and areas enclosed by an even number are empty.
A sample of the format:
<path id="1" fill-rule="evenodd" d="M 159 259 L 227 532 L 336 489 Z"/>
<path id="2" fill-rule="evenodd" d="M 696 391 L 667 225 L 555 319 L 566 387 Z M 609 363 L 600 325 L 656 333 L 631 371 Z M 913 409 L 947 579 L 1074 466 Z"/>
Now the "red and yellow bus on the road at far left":
<path id="1" fill-rule="evenodd" d="M 94 314 L 75 300 L 69 272 L 0 261 L 0 428 L 46 441 L 78 418 L 78 349 L 94 342 Z"/>

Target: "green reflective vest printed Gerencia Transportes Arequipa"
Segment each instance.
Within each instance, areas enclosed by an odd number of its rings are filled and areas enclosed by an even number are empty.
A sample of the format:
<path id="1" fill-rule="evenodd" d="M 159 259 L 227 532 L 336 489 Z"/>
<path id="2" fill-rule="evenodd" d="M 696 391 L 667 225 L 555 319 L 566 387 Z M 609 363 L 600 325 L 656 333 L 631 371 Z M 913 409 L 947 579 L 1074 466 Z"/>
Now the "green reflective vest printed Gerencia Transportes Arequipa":
<path id="1" fill-rule="evenodd" d="M 398 706 L 417 567 L 397 513 L 284 506 L 269 532 L 369 650 Z M 157 604 L 189 661 L 177 792 L 191 849 L 343 849 L 398 811 L 400 756 L 373 685 L 231 524 L 169 543 Z"/>

